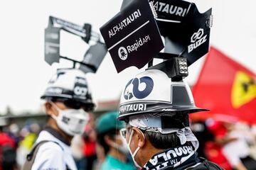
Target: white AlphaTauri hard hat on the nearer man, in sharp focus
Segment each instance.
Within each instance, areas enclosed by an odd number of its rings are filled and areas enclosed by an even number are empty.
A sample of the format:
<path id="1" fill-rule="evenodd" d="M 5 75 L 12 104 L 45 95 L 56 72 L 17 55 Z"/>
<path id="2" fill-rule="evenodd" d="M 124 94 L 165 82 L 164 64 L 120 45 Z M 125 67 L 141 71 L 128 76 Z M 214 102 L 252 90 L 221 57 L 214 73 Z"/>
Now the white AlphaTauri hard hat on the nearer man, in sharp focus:
<path id="1" fill-rule="evenodd" d="M 119 120 L 133 115 L 208 111 L 197 108 L 191 89 L 183 81 L 171 81 L 164 72 L 151 69 L 137 74 L 124 88 L 119 104 Z"/>

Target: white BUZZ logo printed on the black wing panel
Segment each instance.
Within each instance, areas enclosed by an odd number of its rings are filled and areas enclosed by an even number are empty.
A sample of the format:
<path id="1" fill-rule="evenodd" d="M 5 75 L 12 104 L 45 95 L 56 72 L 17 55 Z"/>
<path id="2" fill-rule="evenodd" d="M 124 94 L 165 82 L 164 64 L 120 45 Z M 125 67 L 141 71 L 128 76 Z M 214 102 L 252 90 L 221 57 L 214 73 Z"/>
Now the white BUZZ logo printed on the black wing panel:
<path id="1" fill-rule="evenodd" d="M 203 28 L 199 28 L 198 32 L 193 33 L 191 36 L 191 45 L 188 45 L 188 53 L 195 50 L 197 47 L 202 45 L 204 42 L 206 42 L 207 35 L 203 36 Z"/>

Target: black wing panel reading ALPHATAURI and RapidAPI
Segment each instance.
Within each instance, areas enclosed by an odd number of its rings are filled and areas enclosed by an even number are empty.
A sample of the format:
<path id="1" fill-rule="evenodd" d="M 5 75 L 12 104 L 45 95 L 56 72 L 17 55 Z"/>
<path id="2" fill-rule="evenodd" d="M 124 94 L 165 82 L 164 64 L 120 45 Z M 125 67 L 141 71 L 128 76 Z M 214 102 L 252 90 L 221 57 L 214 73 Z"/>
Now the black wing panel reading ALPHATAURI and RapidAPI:
<path id="1" fill-rule="evenodd" d="M 117 72 L 144 67 L 164 44 L 147 0 L 133 0 L 100 28 Z"/>

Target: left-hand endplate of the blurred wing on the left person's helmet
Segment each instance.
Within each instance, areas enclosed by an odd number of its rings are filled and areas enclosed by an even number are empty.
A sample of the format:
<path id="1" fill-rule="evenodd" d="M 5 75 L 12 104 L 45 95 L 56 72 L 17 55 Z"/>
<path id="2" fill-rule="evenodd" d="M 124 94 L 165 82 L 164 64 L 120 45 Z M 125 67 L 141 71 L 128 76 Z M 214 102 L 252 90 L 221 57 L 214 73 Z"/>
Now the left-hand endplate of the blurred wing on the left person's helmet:
<path id="1" fill-rule="evenodd" d="M 45 60 L 50 65 L 60 61 L 60 28 L 45 29 Z"/>

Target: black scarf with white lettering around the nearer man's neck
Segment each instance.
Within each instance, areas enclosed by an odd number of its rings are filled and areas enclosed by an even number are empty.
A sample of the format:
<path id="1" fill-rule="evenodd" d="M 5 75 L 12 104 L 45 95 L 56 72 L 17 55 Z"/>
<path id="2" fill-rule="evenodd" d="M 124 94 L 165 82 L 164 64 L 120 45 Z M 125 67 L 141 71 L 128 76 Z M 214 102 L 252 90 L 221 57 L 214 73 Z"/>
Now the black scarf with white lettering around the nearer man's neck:
<path id="1" fill-rule="evenodd" d="M 200 162 L 197 157 L 195 148 L 192 145 L 181 145 L 166 149 L 164 152 L 155 154 L 147 162 L 142 170 L 156 169 L 186 169 L 193 164 Z"/>

